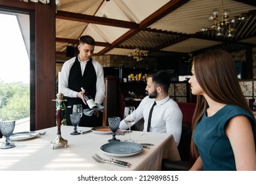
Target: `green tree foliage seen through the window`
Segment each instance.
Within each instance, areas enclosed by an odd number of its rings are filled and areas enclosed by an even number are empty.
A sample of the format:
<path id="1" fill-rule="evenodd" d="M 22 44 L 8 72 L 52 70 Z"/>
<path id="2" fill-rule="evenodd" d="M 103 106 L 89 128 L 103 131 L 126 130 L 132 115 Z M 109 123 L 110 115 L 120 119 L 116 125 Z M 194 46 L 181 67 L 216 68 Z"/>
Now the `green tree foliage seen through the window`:
<path id="1" fill-rule="evenodd" d="M 30 85 L 0 81 L 0 109 L 3 120 L 19 120 L 30 116 Z"/>

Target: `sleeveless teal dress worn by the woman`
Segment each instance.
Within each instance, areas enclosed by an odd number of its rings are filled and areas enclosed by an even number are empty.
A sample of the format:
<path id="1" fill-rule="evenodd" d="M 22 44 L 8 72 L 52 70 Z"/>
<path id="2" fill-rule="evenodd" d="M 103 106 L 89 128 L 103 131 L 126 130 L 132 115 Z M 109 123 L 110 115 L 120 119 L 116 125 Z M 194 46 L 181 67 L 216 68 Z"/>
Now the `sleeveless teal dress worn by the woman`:
<path id="1" fill-rule="evenodd" d="M 227 104 L 211 117 L 207 117 L 207 112 L 204 112 L 193 134 L 193 141 L 203 162 L 203 170 L 236 170 L 234 152 L 225 134 L 224 127 L 230 118 L 239 115 L 249 118 L 253 135 L 255 135 L 256 122 L 243 108 Z"/>

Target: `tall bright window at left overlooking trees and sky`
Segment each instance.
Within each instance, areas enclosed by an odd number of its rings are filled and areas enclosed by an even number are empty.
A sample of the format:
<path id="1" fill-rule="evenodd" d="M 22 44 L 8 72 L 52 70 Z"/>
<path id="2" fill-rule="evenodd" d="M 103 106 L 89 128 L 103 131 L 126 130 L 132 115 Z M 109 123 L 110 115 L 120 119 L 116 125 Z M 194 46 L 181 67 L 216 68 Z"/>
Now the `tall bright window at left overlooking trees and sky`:
<path id="1" fill-rule="evenodd" d="M 0 109 L 14 131 L 29 131 L 30 15 L 0 9 L 0 24 Z"/>

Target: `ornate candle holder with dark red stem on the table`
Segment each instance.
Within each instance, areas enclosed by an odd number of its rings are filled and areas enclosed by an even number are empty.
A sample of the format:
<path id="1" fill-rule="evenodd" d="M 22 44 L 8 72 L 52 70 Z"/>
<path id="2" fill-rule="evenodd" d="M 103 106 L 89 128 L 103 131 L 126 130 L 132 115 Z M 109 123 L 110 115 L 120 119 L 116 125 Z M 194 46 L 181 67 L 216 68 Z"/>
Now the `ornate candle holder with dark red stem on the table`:
<path id="1" fill-rule="evenodd" d="M 52 101 L 56 101 L 58 105 L 56 106 L 56 117 L 57 117 L 57 137 L 55 138 L 54 141 L 51 141 L 51 148 L 55 149 L 57 147 L 65 147 L 68 145 L 68 141 L 66 139 L 63 139 L 61 137 L 61 103 L 63 101 L 66 101 L 63 99 L 63 94 L 58 93 L 56 95 L 57 99 L 53 99 Z"/>

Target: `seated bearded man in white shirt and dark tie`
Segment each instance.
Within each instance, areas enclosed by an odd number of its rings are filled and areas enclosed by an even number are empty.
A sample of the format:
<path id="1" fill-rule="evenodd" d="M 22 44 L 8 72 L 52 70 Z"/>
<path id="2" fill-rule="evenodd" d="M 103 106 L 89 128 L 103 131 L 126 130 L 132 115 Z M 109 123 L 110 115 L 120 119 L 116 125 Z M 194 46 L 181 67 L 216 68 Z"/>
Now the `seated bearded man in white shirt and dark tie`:
<path id="1" fill-rule="evenodd" d="M 144 118 L 143 131 L 172 134 L 178 146 L 182 133 L 182 112 L 178 104 L 168 96 L 169 85 L 170 76 L 166 71 L 154 71 L 149 74 L 145 88 L 149 95 L 141 101 L 138 108 L 130 116 L 136 116 L 134 124 Z M 124 120 L 120 122 L 119 127 L 120 129 L 128 129 Z"/>

